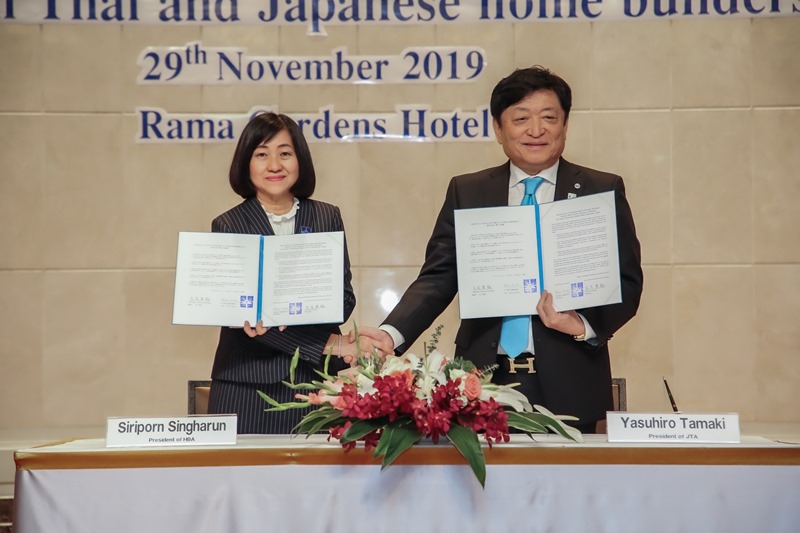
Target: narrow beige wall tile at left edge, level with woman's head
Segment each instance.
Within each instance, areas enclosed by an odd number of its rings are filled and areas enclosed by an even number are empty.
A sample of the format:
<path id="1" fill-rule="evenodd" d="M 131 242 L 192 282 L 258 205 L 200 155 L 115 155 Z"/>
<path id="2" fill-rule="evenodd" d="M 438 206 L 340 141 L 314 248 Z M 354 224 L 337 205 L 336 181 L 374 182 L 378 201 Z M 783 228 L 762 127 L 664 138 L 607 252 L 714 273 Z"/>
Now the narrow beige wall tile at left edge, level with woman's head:
<path id="1" fill-rule="evenodd" d="M 0 115 L 0 268 L 42 265 L 43 122 L 38 115 Z"/>

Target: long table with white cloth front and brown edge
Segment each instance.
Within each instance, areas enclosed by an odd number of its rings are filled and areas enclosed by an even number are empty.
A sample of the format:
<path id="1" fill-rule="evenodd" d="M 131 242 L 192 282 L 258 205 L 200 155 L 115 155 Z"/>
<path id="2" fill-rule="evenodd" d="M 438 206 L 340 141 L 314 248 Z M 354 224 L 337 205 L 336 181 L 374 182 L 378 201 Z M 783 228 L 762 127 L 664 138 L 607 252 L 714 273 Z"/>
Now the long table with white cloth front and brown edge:
<path id="1" fill-rule="evenodd" d="M 485 447 L 485 487 L 449 444 L 382 470 L 324 436 L 15 453 L 17 533 L 797 532 L 800 446 L 608 443 L 512 435 Z"/>

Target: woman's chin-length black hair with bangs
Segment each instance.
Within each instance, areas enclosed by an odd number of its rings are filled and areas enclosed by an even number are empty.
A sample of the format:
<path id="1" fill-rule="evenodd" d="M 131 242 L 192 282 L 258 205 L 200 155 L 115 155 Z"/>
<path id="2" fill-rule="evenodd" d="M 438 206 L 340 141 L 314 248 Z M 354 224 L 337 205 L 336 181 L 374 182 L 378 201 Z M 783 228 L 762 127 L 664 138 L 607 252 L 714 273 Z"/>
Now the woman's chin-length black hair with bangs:
<path id="1" fill-rule="evenodd" d="M 229 176 L 231 188 L 236 194 L 242 198 L 252 198 L 256 195 L 256 189 L 250 180 L 250 160 L 261 143 L 269 141 L 283 130 L 288 131 L 292 138 L 300 169 L 300 175 L 291 192 L 297 198 L 308 198 L 314 194 L 317 175 L 314 172 L 314 162 L 311 160 L 311 150 L 300 126 L 288 116 L 272 112 L 259 113 L 251 118 L 239 136 Z"/>

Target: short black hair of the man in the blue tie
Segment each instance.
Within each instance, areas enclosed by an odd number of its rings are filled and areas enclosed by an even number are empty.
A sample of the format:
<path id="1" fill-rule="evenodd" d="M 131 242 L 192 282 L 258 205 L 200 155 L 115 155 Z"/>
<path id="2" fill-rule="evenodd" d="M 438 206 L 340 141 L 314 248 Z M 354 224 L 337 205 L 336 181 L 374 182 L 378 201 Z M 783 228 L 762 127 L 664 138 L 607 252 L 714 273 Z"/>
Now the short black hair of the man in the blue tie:
<path id="1" fill-rule="evenodd" d="M 572 108 L 572 89 L 561 77 L 541 65 L 517 69 L 497 83 L 489 102 L 492 118 L 500 122 L 503 111 L 541 90 L 556 93 L 564 110 L 564 122 L 566 122 L 569 110 Z"/>

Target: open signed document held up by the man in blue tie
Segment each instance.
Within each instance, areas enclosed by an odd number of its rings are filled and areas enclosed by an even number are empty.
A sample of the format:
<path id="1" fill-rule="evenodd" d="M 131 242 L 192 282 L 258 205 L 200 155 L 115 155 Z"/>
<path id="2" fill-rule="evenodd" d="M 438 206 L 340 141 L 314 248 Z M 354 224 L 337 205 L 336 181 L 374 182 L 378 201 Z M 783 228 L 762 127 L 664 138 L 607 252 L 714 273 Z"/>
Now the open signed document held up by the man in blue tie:
<path id="1" fill-rule="evenodd" d="M 534 315 L 619 303 L 614 192 L 455 212 L 461 318 Z"/>

